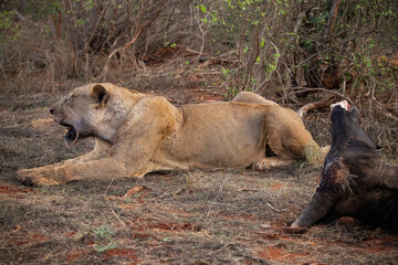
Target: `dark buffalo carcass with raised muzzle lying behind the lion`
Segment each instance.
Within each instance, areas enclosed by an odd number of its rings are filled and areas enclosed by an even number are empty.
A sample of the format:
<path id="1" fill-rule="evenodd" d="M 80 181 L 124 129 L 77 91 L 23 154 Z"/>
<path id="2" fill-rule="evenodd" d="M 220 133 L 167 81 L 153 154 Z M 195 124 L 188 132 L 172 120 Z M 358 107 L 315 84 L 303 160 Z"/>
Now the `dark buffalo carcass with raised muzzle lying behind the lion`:
<path id="1" fill-rule="evenodd" d="M 381 161 L 357 110 L 345 100 L 332 105 L 332 147 L 322 180 L 291 229 L 341 216 L 398 231 L 398 166 Z"/>

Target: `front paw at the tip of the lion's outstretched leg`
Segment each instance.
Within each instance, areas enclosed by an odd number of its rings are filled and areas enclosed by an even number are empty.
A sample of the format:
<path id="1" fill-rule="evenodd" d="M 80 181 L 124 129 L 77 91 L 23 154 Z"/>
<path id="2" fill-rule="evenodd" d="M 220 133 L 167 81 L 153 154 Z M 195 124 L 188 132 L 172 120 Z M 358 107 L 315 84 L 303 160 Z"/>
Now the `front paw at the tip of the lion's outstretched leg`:
<path id="1" fill-rule="evenodd" d="M 59 180 L 55 180 L 50 174 L 49 169 L 20 169 L 17 171 L 18 178 L 25 186 L 52 186 L 60 184 Z"/>

